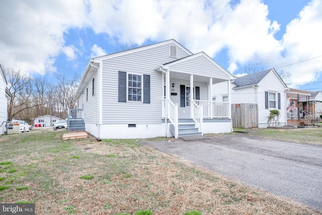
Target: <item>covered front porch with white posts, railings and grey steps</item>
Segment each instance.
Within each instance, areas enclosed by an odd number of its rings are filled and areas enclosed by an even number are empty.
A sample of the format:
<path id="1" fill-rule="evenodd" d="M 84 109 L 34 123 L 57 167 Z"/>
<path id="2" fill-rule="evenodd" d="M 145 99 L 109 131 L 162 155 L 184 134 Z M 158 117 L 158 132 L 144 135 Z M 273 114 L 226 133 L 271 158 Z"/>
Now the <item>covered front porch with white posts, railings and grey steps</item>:
<path id="1" fill-rule="evenodd" d="M 203 135 L 207 128 L 214 126 L 208 122 L 218 124 L 220 120 L 225 122 L 226 130 L 229 130 L 226 132 L 230 132 L 232 129 L 230 96 L 227 102 L 212 101 L 213 84 L 226 82 L 230 95 L 232 77 L 228 75 L 229 73 L 219 70 L 216 64 L 212 64 L 213 68 L 208 68 L 210 70 L 207 70 L 207 73 L 197 73 L 197 67 L 190 70 L 185 66 L 185 69 L 181 70 L 178 67 L 180 62 L 175 62 L 160 65 L 155 69 L 162 72 L 164 87 L 162 117 L 166 126 L 168 123 L 171 124 L 170 131 L 173 135 L 176 138 L 183 132 L 186 132 L 186 135 Z M 184 62 L 188 63 L 181 61 Z M 181 129 L 184 131 L 180 131 Z"/>

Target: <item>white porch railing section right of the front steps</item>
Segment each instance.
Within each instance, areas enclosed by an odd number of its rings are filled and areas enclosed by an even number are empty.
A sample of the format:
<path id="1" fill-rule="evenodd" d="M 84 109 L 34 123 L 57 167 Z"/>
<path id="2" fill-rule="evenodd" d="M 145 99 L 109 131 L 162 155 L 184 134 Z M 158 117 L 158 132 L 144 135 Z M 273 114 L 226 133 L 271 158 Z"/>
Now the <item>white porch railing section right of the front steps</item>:
<path id="1" fill-rule="evenodd" d="M 203 106 L 204 118 L 229 118 L 229 102 L 213 102 L 195 100 L 196 104 Z"/>

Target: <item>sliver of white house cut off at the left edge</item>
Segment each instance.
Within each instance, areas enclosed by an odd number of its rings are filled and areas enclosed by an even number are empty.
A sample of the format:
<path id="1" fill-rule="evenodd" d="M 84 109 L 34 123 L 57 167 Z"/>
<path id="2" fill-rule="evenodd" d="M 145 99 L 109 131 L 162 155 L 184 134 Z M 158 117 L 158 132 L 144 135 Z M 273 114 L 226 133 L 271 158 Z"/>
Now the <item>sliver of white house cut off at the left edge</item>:
<path id="1" fill-rule="evenodd" d="M 7 79 L 5 71 L 1 66 L 0 71 L 0 134 L 6 131 L 6 123 L 4 121 L 8 120 L 8 100 L 12 97 L 7 85 Z"/>

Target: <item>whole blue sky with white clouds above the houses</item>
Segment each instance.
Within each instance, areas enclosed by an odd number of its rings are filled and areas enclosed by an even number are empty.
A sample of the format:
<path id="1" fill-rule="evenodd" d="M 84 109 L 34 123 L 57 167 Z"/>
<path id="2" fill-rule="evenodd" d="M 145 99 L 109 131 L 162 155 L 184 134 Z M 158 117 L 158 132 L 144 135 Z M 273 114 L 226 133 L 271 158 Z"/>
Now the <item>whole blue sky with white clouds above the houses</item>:
<path id="1" fill-rule="evenodd" d="M 81 76 L 88 61 L 175 39 L 233 75 L 252 63 L 322 90 L 322 0 L 1 0 L 0 62 L 33 77 Z"/>

